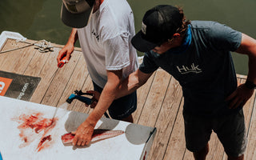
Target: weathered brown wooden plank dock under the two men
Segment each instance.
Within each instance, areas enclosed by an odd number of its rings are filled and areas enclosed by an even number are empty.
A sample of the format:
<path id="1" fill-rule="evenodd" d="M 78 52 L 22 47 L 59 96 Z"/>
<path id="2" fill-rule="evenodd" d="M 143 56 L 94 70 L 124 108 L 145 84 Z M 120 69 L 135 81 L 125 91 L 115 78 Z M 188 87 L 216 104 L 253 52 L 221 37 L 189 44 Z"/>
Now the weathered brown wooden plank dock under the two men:
<path id="1" fill-rule="evenodd" d="M 12 50 L 35 41 L 16 42 L 7 39 L 0 51 Z M 34 46 L 0 54 L 0 70 L 15 74 L 29 75 L 42 78 L 30 102 L 42 103 L 48 106 L 60 106 L 74 90 L 92 90 L 92 82 L 81 49 L 75 48 L 69 63 L 61 69 L 57 67 L 56 58 L 62 46 L 52 44 L 52 52 L 41 53 Z M 54 75 L 56 71 L 56 74 Z M 238 75 L 238 82 L 245 82 L 246 76 Z M 157 134 L 150 151 L 150 160 L 190 160 L 194 159 L 186 150 L 182 118 L 182 90 L 178 82 L 164 70 L 158 69 L 138 89 L 138 109 L 134 112 L 134 123 L 143 126 L 155 126 Z M 74 101 L 68 108 L 90 114 L 82 102 Z M 256 108 L 255 92 L 244 106 L 248 144 L 246 160 L 256 159 Z M 224 160 L 221 143 L 216 134 L 211 135 L 209 160 Z"/>

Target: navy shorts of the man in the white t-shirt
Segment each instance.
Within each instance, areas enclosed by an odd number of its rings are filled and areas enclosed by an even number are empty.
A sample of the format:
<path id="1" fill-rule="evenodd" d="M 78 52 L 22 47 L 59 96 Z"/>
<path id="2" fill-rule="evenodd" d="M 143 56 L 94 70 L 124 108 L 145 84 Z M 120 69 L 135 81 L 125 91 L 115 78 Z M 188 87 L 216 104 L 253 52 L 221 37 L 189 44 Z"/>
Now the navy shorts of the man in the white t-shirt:
<path id="1" fill-rule="evenodd" d="M 102 93 L 102 88 L 97 84 L 94 84 L 94 90 Z M 111 118 L 122 120 L 127 118 L 130 114 L 134 113 L 137 109 L 137 94 L 136 91 L 132 94 L 126 95 L 122 98 L 118 98 L 112 102 L 108 111 Z"/>

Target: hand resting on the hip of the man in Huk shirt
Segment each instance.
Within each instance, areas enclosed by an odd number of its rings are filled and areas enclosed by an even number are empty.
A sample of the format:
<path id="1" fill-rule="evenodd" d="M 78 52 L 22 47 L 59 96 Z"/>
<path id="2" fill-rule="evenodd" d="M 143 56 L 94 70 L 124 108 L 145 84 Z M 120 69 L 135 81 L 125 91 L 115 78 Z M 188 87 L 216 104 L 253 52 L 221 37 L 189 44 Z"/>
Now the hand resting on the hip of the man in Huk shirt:
<path id="1" fill-rule="evenodd" d="M 254 90 L 250 90 L 245 86 L 245 84 L 241 84 L 232 94 L 230 94 L 230 96 L 226 98 L 226 101 L 230 101 L 230 109 L 235 109 L 239 105 L 244 106 L 252 94 L 254 94 Z"/>

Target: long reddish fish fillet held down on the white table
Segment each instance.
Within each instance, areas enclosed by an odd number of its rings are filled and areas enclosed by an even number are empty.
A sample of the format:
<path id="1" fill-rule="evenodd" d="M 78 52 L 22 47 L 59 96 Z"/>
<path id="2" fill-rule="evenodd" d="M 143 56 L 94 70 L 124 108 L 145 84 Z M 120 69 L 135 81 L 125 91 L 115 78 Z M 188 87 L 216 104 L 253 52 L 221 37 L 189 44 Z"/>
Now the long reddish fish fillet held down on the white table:
<path id="1" fill-rule="evenodd" d="M 96 129 L 96 130 L 94 130 L 94 134 L 92 135 L 90 142 L 96 142 L 96 141 L 106 139 L 106 138 L 113 138 L 113 137 L 118 136 L 123 133 L 124 133 L 124 131 L 122 131 L 122 130 Z M 74 134 L 71 134 L 71 133 L 63 134 L 62 142 L 63 142 L 63 144 L 71 143 L 73 141 L 73 138 L 74 138 Z"/>

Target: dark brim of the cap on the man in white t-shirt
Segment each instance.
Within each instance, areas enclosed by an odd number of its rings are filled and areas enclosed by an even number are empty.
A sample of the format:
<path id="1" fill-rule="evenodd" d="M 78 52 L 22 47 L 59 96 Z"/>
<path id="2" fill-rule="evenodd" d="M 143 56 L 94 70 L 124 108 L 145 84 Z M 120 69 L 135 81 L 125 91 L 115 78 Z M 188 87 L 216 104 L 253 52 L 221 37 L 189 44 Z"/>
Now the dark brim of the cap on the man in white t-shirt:
<path id="1" fill-rule="evenodd" d="M 81 14 L 71 14 L 68 10 L 66 10 L 66 7 L 62 2 L 62 10 L 61 10 L 62 22 L 66 26 L 70 26 L 73 28 L 82 28 L 87 25 L 88 20 L 90 18 L 91 10 L 92 8 L 90 8 L 90 10 L 86 10 Z"/>

